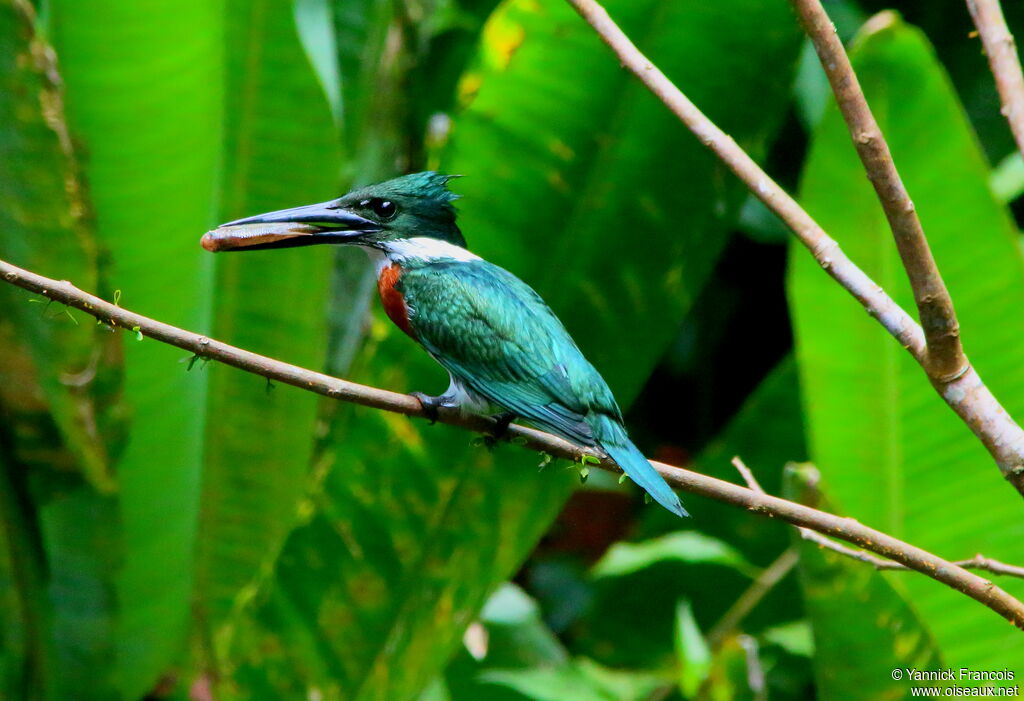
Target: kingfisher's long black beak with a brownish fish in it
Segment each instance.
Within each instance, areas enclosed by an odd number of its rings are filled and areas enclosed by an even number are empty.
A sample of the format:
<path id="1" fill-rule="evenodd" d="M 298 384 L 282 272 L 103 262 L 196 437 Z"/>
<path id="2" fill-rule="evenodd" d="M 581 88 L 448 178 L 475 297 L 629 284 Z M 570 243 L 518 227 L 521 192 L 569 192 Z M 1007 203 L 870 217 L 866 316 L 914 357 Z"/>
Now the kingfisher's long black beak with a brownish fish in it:
<path id="1" fill-rule="evenodd" d="M 200 239 L 207 251 L 260 251 L 317 244 L 356 244 L 380 224 L 325 202 L 257 214 L 221 224 Z"/>

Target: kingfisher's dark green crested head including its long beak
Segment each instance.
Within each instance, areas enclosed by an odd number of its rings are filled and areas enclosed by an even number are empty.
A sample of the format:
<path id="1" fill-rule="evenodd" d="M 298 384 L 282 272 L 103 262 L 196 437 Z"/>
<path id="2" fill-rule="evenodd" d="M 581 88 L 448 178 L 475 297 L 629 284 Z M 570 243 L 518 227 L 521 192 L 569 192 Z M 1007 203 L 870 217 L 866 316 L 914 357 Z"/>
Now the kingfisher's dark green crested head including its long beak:
<path id="1" fill-rule="evenodd" d="M 256 251 L 317 244 L 384 249 L 406 238 L 436 238 L 462 248 L 453 176 L 414 173 L 367 185 L 338 200 L 246 217 L 205 234 L 207 251 Z"/>

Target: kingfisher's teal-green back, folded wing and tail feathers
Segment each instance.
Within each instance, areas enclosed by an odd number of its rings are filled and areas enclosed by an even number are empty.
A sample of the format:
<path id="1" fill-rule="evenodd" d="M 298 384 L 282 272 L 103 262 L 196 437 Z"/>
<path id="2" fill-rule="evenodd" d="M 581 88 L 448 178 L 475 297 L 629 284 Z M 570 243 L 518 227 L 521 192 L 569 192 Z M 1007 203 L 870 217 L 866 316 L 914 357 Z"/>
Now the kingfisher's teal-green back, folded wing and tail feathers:
<path id="1" fill-rule="evenodd" d="M 482 260 L 434 261 L 403 269 L 396 287 L 417 339 L 465 387 L 551 433 L 600 446 L 662 506 L 686 515 L 627 437 L 603 378 L 525 282 Z"/>

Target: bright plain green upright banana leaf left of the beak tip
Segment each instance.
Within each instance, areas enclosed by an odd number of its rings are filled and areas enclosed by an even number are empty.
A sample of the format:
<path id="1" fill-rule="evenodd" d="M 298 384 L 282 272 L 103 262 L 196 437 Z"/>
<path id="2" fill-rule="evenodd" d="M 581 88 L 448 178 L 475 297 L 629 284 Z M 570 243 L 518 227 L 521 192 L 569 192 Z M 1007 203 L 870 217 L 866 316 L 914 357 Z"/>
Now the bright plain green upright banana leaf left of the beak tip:
<path id="1" fill-rule="evenodd" d="M 196 237 L 214 214 L 221 4 L 53 0 L 49 8 L 72 133 L 87 144 L 96 231 L 113 261 L 110 287 L 139 312 L 207 327 L 212 268 Z M 179 360 L 180 351 L 126 340 L 131 428 L 117 464 L 124 553 L 115 630 L 116 682 L 129 698 L 181 653 L 188 623 L 206 377 Z"/>

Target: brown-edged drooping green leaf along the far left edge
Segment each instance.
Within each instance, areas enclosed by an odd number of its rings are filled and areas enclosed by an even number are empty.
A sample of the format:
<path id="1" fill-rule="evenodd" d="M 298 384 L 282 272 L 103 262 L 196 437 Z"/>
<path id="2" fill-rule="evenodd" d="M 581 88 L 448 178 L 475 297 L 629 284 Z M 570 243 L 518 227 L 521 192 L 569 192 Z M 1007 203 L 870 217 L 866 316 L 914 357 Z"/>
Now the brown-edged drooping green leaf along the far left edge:
<path id="1" fill-rule="evenodd" d="M 88 204 L 58 65 L 33 19 L 27 1 L 0 5 L 0 258 L 95 291 L 97 245 L 85 221 Z M 109 428 L 105 403 L 114 389 L 106 382 L 110 335 L 59 316 L 60 305 L 29 304 L 33 298 L 26 293 L 4 287 L 0 301 L 16 333 L 0 352 L 0 365 L 17 353 L 31 355 L 37 369 L 31 382 L 45 395 L 75 468 L 96 488 L 112 491 L 109 450 L 99 435 Z"/>

